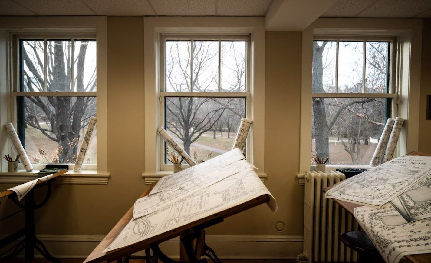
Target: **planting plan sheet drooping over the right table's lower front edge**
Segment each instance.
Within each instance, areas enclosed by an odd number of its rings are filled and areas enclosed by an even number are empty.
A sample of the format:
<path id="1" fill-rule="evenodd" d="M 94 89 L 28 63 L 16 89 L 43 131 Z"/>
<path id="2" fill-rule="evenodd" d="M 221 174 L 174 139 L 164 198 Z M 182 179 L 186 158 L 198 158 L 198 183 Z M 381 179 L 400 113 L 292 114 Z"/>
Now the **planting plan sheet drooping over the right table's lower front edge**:
<path id="1" fill-rule="evenodd" d="M 404 255 L 431 253 L 431 218 L 407 222 L 390 204 L 355 208 L 355 218 L 388 263 Z"/>

